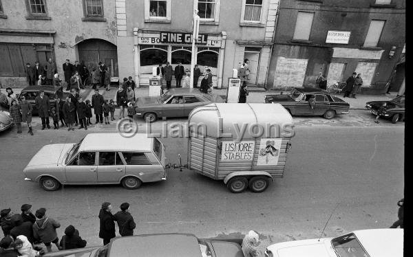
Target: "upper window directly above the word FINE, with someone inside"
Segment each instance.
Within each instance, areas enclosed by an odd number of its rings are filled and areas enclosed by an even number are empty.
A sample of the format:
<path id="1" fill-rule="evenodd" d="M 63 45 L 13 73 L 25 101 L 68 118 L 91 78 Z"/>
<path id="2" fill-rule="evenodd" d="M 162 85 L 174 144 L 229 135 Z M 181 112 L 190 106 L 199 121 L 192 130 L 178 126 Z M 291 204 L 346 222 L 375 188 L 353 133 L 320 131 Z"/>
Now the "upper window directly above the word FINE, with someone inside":
<path id="1" fill-rule="evenodd" d="M 171 22 L 171 0 L 145 0 L 145 22 Z"/>

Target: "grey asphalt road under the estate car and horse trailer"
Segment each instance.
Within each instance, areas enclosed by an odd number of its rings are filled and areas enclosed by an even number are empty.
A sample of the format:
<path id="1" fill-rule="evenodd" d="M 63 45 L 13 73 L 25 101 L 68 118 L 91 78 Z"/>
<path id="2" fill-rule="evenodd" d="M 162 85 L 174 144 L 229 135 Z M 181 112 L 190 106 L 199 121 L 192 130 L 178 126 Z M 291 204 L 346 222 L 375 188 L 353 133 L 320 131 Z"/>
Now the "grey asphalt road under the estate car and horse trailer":
<path id="1" fill-rule="evenodd" d="M 159 126 L 159 125 L 158 125 Z M 86 131 L 36 131 L 0 135 L 1 208 L 17 212 L 22 203 L 67 225 L 78 227 L 88 245 L 100 245 L 98 210 L 103 201 L 117 208 L 131 203 L 136 234 L 191 232 L 198 236 L 239 236 L 260 232 L 263 245 L 320 235 L 330 212 L 326 236 L 357 229 L 388 227 L 403 197 L 404 126 L 297 126 L 283 179 L 261 194 L 232 194 L 222 181 L 190 170 L 172 170 L 167 181 L 138 190 L 120 186 L 67 186 L 45 192 L 23 181 L 22 170 L 41 146 L 76 142 Z M 110 129 L 91 129 L 109 131 Z M 112 130 L 113 131 L 113 130 Z M 24 131 L 23 131 L 24 132 Z M 25 132 L 24 132 L 25 133 Z M 167 157 L 186 155 L 186 139 L 166 138 Z"/>

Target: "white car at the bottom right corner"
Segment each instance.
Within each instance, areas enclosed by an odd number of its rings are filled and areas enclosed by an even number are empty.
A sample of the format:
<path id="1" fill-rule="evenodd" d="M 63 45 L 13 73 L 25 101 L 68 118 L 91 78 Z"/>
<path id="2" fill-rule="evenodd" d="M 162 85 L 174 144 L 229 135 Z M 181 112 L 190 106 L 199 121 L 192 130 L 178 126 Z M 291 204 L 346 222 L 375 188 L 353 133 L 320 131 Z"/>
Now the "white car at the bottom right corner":
<path id="1" fill-rule="evenodd" d="M 356 230 L 336 238 L 276 243 L 266 257 L 403 257 L 403 229 Z"/>

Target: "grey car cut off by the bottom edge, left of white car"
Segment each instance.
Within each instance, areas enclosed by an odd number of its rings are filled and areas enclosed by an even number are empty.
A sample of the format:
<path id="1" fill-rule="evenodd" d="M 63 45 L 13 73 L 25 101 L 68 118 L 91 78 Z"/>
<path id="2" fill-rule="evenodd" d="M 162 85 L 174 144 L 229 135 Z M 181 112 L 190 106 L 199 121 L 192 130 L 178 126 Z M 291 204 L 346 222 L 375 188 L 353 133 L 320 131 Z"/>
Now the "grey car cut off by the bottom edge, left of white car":
<path id="1" fill-rule="evenodd" d="M 113 238 L 103 247 L 64 250 L 44 257 L 244 257 L 242 239 L 197 238 L 193 234 L 144 234 Z"/>

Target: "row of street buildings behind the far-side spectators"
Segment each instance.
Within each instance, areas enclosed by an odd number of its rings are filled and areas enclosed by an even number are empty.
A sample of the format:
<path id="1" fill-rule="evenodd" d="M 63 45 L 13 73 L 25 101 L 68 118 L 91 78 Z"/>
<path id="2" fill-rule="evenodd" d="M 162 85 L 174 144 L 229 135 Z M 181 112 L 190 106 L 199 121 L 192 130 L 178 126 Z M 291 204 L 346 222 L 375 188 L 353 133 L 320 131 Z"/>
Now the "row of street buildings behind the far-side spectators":
<path id="1" fill-rule="evenodd" d="M 153 66 L 195 60 L 218 88 L 250 60 L 249 84 L 265 89 L 328 85 L 363 74 L 364 92 L 404 78 L 405 0 L 0 0 L 0 82 L 25 85 L 25 63 L 65 59 L 148 85 Z"/>

